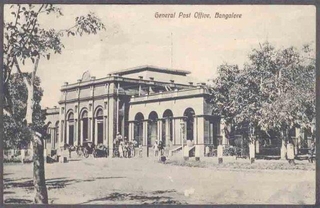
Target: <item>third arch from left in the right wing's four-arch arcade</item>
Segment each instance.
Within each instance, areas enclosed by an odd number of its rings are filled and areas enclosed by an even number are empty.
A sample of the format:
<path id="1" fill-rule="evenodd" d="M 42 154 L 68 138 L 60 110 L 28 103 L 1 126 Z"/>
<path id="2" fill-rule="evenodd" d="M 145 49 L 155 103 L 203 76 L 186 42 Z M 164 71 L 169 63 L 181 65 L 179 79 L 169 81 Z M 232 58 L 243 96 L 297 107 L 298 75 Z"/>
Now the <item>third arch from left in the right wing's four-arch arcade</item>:
<path id="1" fill-rule="evenodd" d="M 172 128 L 172 118 L 173 113 L 171 110 L 167 109 L 162 116 L 162 142 L 165 146 L 168 146 L 172 142 L 173 128 Z"/>

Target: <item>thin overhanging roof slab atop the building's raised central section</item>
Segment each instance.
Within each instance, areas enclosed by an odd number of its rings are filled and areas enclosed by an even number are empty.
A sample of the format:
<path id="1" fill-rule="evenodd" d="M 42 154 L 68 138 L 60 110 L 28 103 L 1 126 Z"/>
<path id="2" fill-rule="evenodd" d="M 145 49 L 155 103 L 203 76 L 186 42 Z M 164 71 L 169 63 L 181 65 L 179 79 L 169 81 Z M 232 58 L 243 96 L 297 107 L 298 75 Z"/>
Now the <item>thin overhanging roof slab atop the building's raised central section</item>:
<path id="1" fill-rule="evenodd" d="M 139 66 L 139 67 L 114 71 L 114 72 L 111 72 L 110 75 L 121 76 L 121 75 L 141 72 L 141 71 L 154 71 L 154 72 L 162 72 L 162 73 L 176 74 L 176 75 L 182 75 L 182 76 L 186 76 L 187 74 L 191 73 L 190 71 L 186 71 L 186 70 L 168 69 L 168 68 L 161 68 L 161 67 L 146 65 L 146 66 Z"/>

